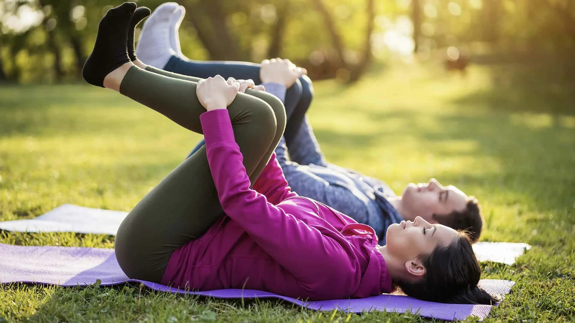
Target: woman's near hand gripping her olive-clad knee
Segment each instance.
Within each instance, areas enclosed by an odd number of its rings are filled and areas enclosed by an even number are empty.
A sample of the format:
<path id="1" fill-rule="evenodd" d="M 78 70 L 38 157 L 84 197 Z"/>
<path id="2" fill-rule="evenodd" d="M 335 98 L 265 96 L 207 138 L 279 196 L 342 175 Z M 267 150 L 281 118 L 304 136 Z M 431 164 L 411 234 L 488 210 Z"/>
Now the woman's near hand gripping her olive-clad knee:
<path id="1" fill-rule="evenodd" d="M 213 78 L 200 80 L 196 87 L 196 94 L 201 105 L 211 111 L 227 108 L 236 98 L 239 89 L 239 82 L 228 84 L 223 77 L 216 75 Z"/>

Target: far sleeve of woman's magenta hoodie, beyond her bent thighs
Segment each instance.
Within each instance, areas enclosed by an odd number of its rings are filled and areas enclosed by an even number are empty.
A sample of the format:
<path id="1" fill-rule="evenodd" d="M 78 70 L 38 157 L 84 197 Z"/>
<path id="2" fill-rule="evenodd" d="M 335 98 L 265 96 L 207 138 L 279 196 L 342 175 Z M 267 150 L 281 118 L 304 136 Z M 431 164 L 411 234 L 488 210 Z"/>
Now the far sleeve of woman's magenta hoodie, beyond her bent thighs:
<path id="1" fill-rule="evenodd" d="M 254 183 L 254 190 L 263 194 L 267 201 L 273 205 L 278 204 L 286 198 L 297 196 L 289 186 L 287 180 L 283 176 L 281 166 L 275 157 L 275 152 L 271 155 L 270 161 L 263 169 L 262 174 L 259 175 Z"/>

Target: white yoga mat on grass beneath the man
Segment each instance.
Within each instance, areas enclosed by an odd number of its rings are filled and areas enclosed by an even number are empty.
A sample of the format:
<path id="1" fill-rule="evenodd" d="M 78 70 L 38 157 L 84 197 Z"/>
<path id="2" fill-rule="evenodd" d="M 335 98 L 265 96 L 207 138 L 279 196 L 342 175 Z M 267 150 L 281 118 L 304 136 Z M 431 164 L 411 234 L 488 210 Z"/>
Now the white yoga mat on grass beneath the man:
<path id="1" fill-rule="evenodd" d="M 64 204 L 30 220 L 0 222 L 0 229 L 14 232 L 102 233 L 115 236 L 128 212 Z M 531 246 L 526 243 L 478 242 L 473 245 L 480 262 L 513 264 Z"/>

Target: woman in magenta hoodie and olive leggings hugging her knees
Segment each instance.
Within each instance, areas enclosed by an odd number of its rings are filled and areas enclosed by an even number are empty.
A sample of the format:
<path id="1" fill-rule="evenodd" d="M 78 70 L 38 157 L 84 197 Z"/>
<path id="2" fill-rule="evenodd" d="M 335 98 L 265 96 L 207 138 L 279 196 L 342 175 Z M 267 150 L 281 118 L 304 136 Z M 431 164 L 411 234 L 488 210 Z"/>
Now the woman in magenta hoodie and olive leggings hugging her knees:
<path id="1" fill-rule="evenodd" d="M 203 132 L 206 145 L 122 222 L 115 249 L 125 274 L 181 289 L 259 289 L 303 299 L 367 297 L 395 283 L 437 302 L 494 301 L 477 287 L 480 267 L 465 234 L 417 217 L 390 226 L 387 244 L 378 247 L 369 226 L 290 191 L 273 152 L 285 127 L 281 101 L 250 81 L 145 66 L 127 41 L 149 12 L 132 2 L 110 9 L 82 74 Z"/>

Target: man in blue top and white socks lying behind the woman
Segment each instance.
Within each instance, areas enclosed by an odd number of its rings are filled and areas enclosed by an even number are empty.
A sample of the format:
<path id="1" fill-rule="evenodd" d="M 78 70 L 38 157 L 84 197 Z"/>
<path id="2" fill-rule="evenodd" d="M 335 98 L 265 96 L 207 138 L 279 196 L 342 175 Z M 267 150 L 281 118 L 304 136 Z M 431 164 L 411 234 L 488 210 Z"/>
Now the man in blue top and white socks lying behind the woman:
<path id="1" fill-rule="evenodd" d="M 136 48 L 140 60 L 177 74 L 199 78 L 220 74 L 224 78 L 253 79 L 255 84 L 262 83 L 268 90 L 275 89 L 273 83 L 278 83 L 277 75 L 283 72 L 281 70 L 265 75 L 260 71 L 260 64 L 198 61 L 185 57 L 179 46 L 178 30 L 184 12 L 183 7 L 174 2 L 163 3 L 154 10 L 140 33 Z M 309 121 L 304 118 L 313 97 L 311 81 L 302 75 L 283 85 L 287 90 L 277 95 L 285 95 L 287 121 L 284 136 L 275 153 L 283 175 L 294 191 L 371 226 L 377 233 L 379 244 L 385 243 L 389 225 L 402 220 L 413 221 L 416 216 L 423 217 L 431 224 L 465 229 L 472 241 L 479 238 L 483 221 L 477 199 L 467 197 L 454 186 L 443 186 L 431 179 L 417 186 L 408 184 L 397 196 L 380 180 L 328 163 Z M 202 145 L 203 140 L 192 153 Z"/>

